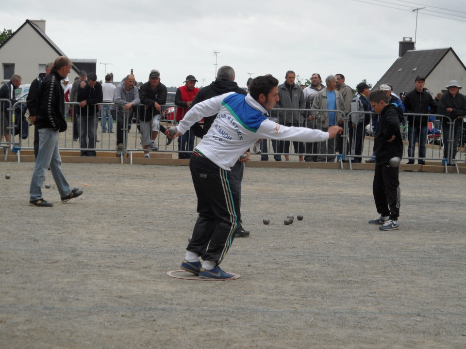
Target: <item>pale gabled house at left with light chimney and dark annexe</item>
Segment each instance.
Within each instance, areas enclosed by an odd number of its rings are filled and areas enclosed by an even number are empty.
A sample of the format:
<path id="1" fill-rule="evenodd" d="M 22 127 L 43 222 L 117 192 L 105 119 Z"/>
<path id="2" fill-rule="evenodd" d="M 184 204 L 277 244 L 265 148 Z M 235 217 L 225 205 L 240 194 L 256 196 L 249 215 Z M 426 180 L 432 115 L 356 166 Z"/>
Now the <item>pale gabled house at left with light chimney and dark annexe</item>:
<path id="1" fill-rule="evenodd" d="M 26 19 L 0 46 L 0 86 L 8 82 L 13 74 L 20 75 L 23 84 L 31 83 L 39 73 L 45 72 L 45 65 L 55 61 L 58 56 L 67 55 L 46 35 L 45 20 Z M 96 71 L 97 60 L 72 59 L 71 62 L 73 66 L 68 74 L 70 81 L 78 76 L 81 69 L 89 69 L 89 63 L 94 64 L 93 71 Z M 83 67 L 80 62 L 84 63 Z"/>

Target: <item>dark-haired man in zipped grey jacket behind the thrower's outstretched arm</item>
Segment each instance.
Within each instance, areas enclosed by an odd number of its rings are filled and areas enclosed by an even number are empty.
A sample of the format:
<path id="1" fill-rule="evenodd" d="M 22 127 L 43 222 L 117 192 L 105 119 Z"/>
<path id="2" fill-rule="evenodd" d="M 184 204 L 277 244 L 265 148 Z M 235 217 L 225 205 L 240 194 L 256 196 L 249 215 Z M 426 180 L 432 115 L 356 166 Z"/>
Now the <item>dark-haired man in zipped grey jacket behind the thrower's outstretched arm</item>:
<path id="1" fill-rule="evenodd" d="M 285 75 L 285 82 L 278 86 L 279 102 L 275 105 L 275 108 L 283 109 L 305 109 L 306 100 L 302 92 L 301 86 L 295 84 L 296 74 L 292 70 L 288 70 Z M 300 127 L 303 123 L 303 116 L 301 111 L 279 111 L 278 112 L 278 123 L 285 126 Z M 295 154 L 304 154 L 304 143 L 293 141 L 293 147 Z M 280 153 L 290 153 L 290 141 L 279 142 Z M 302 155 L 300 162 L 304 161 Z M 289 155 L 285 155 L 285 160 L 290 161 Z"/>

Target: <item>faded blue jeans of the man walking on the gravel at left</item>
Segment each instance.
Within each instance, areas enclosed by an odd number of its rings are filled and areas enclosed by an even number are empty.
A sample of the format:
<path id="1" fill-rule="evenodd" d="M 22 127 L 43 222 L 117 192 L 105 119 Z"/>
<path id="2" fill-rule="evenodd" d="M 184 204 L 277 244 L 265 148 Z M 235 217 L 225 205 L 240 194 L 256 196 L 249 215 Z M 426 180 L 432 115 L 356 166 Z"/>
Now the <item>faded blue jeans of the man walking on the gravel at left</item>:
<path id="1" fill-rule="evenodd" d="M 53 180 L 57 185 L 60 197 L 68 196 L 71 188 L 61 169 L 62 160 L 58 152 L 58 131 L 51 128 L 39 129 L 39 153 L 35 159 L 33 177 L 29 196 L 31 201 L 42 199 L 42 185 L 44 184 L 45 174 L 50 167 Z"/>

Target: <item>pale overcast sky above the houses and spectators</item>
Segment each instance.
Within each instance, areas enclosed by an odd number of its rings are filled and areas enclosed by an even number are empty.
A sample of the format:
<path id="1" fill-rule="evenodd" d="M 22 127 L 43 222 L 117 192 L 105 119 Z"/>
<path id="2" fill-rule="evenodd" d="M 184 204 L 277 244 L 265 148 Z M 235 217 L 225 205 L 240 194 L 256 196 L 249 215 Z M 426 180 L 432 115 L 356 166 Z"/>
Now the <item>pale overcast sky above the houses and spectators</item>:
<path id="1" fill-rule="evenodd" d="M 2 1 L 0 30 L 45 19 L 46 34 L 69 58 L 97 59 L 99 79 L 105 68 L 115 80 L 133 68 L 136 80 L 145 82 L 158 69 L 167 87 L 183 85 L 189 74 L 198 87 L 208 85 L 215 79 L 215 50 L 217 67 L 231 65 L 241 87 L 249 73 L 270 73 L 282 83 L 287 70 L 303 79 L 342 73 L 353 88 L 363 79 L 375 84 L 398 58 L 399 41 L 414 40 L 412 10 L 421 7 L 426 8 L 418 12 L 416 49 L 452 47 L 466 63 L 466 0 L 20 3 L 19 10 L 15 1 Z"/>

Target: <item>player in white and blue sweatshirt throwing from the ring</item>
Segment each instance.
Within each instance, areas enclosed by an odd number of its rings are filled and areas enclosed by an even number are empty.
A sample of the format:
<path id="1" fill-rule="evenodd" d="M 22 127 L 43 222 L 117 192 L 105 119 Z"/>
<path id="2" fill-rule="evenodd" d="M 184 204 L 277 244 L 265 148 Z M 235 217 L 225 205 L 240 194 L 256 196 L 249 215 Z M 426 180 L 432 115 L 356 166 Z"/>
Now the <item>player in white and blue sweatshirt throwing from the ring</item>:
<path id="1" fill-rule="evenodd" d="M 239 190 L 231 180 L 231 167 L 258 139 L 322 142 L 342 132 L 305 127 L 285 127 L 267 118 L 278 102 L 278 80 L 255 78 L 248 95 L 228 93 L 196 104 L 176 127 L 174 137 L 184 134 L 205 116 L 217 114 L 212 127 L 194 149 L 189 162 L 198 198 L 198 220 L 181 264 L 183 270 L 206 279 L 230 279 L 234 274 L 219 264 L 233 243 L 241 217 L 236 209 Z M 170 130 L 166 131 L 169 135 Z M 201 265 L 199 258 L 203 260 Z"/>

